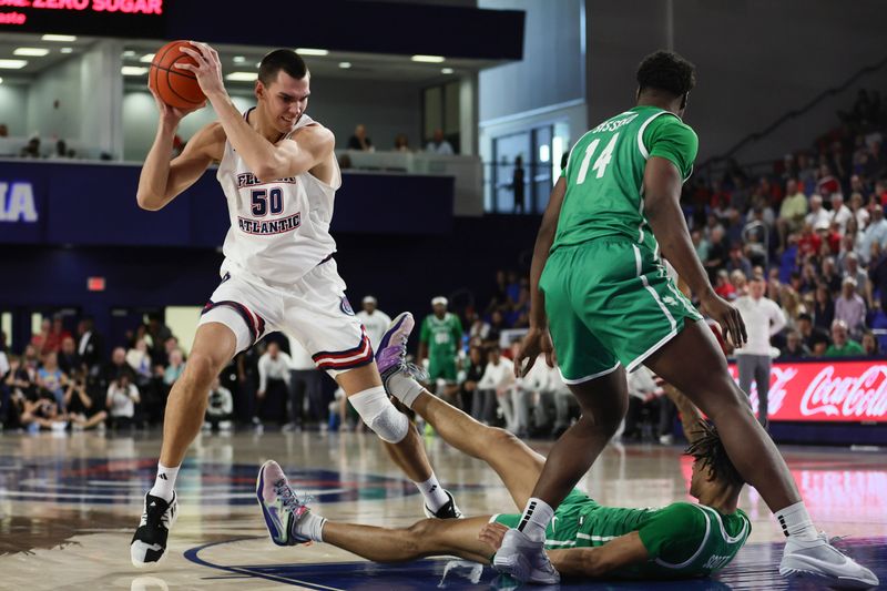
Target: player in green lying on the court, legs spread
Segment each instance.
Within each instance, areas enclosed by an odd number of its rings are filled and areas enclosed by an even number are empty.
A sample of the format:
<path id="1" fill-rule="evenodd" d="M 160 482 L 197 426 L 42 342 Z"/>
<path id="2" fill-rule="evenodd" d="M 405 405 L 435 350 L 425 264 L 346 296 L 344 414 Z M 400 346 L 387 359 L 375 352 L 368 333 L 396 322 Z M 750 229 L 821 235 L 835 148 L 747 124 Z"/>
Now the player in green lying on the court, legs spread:
<path id="1" fill-rule="evenodd" d="M 383 342 L 406 342 L 411 326 L 411 316 L 401 314 Z M 508 431 L 476 421 L 427 390 L 405 396 L 404 383 L 396 384 L 408 370 L 402 357 L 378 359 L 378 364 L 395 396 L 448 444 L 486 461 L 516 506 L 526 505 L 542 471 L 542 456 Z M 546 542 L 560 572 L 575 577 L 704 577 L 723 569 L 745 543 L 751 523 L 736 508 L 742 477 L 717 432 L 702 420 L 692 403 L 676 393 L 673 399 L 691 441 L 687 454 L 695 458 L 690 493 L 700 502 L 675 502 L 662 509 L 612 508 L 573 489 L 558 507 Z M 256 495 L 274 543 L 326 542 L 376 562 L 456 554 L 490 564 L 507 529 L 520 519 L 517 512 L 462 520 L 426 519 L 408 528 L 336 522 L 312 511 L 272 460 L 259 470 Z"/>

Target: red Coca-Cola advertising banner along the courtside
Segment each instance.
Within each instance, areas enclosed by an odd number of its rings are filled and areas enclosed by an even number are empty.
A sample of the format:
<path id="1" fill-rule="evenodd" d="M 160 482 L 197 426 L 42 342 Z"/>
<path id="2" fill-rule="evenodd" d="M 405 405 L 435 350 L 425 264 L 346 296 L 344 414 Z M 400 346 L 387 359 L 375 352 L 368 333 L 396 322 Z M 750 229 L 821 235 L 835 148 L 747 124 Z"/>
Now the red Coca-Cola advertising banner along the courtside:
<path id="1" fill-rule="evenodd" d="M 750 394 L 756 411 L 754 384 Z M 887 422 L 887 361 L 774 361 L 767 407 L 769 420 Z"/>

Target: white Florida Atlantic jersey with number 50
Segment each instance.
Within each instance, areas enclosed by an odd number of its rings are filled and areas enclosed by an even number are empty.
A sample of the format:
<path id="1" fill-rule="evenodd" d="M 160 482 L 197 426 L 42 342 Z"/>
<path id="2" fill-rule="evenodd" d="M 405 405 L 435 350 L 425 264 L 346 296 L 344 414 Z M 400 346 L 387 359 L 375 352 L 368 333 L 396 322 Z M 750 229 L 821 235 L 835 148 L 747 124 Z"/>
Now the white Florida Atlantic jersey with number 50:
<path id="1" fill-rule="evenodd" d="M 251 109 L 252 111 L 252 109 Z M 249 111 L 244 113 L 244 119 Z M 302 115 L 296 129 L 315 124 Z M 223 269 L 231 264 L 264 281 L 290 284 L 336 252 L 329 235 L 335 186 L 308 172 L 276 181 L 257 179 L 231 142 L 216 177 L 228 202 L 231 228 Z"/>

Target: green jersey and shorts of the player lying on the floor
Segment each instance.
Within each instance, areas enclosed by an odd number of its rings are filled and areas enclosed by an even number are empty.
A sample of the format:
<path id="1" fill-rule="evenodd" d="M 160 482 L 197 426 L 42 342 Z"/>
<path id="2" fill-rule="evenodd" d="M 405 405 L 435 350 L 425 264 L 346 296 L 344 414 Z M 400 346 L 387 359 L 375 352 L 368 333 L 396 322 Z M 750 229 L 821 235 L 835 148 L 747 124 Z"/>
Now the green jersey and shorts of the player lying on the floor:
<path id="1" fill-rule="evenodd" d="M 517 527 L 519 514 L 496 521 Z M 513 524 L 512 524 L 513 521 Z M 603 507 L 573 490 L 554 511 L 546 531 L 546 548 L 589 548 L 636 531 L 650 559 L 614 571 L 629 579 L 706 577 L 723 569 L 752 531 L 744 511 L 721 514 L 710 507 L 674 502 L 661 509 Z"/>

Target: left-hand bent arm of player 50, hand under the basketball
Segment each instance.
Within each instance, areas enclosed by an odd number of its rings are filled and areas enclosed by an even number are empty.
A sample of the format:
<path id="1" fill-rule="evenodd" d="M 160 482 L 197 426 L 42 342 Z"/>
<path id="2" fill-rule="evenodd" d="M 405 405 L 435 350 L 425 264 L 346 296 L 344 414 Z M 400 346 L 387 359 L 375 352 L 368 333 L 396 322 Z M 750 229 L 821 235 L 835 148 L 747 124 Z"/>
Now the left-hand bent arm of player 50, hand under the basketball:
<path id="1" fill-rule="evenodd" d="M 135 198 L 141 208 L 154 212 L 165 207 L 180 193 L 193 185 L 213 161 L 222 159 L 225 135 L 221 124 L 210 123 L 185 144 L 182 154 L 171 161 L 173 139 L 179 123 L 194 110 L 173 109 L 163 103 L 153 89 L 151 93 L 154 94 L 160 110 L 160 122 L 154 143 L 139 176 L 139 192 Z"/>

